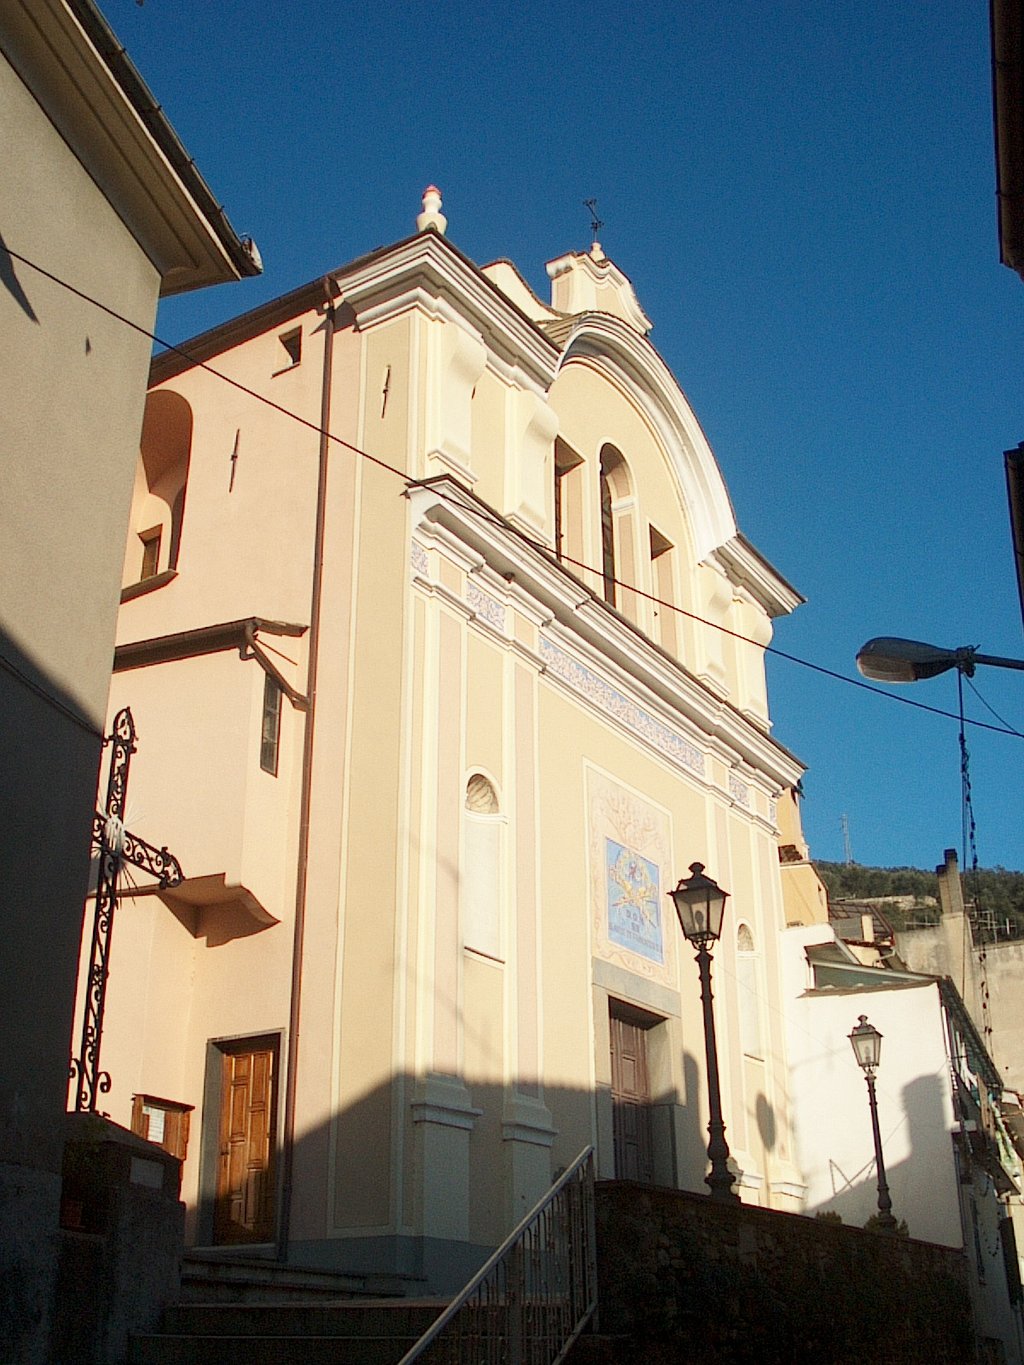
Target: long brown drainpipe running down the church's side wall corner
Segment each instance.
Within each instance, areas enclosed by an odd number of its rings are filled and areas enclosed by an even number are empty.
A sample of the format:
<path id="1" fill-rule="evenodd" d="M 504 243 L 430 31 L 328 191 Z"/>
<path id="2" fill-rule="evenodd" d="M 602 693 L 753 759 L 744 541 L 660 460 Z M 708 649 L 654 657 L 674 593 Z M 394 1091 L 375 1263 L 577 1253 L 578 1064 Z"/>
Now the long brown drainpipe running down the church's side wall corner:
<path id="1" fill-rule="evenodd" d="M 299 796 L 299 849 L 295 870 L 295 931 L 292 984 L 288 1009 L 288 1062 L 284 1082 L 284 1134 L 281 1141 L 281 1216 L 277 1223 L 277 1260 L 288 1260 L 295 1167 L 295 1097 L 299 1070 L 299 1021 L 302 1016 L 302 968 L 306 938 L 306 885 L 310 852 L 310 804 L 313 793 L 313 732 L 317 719 L 317 665 L 319 662 L 319 612 L 324 584 L 324 527 L 326 521 L 328 455 L 330 453 L 330 375 L 335 362 L 335 284 L 325 277 L 324 378 L 319 392 L 319 468 L 317 471 L 317 530 L 313 539 L 313 590 L 310 595 L 310 652 L 306 676 L 306 725 L 302 736 L 302 790 Z"/>

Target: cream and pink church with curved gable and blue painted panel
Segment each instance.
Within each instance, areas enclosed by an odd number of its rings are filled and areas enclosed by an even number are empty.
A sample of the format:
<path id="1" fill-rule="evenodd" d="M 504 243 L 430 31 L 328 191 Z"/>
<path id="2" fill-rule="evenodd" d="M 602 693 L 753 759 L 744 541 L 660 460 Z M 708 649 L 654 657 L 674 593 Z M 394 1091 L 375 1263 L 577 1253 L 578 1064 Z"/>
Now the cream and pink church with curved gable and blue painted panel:
<path id="1" fill-rule="evenodd" d="M 700 861 L 728 1138 L 799 1211 L 763 646 L 800 598 L 595 246 L 419 231 L 154 362 L 111 715 L 111 1115 L 199 1246 L 457 1284 L 588 1144 L 703 1189 Z M 324 434 L 326 433 L 326 435 Z M 706 624 L 710 622 L 710 624 Z M 721 627 L 721 629 L 720 629 Z"/>

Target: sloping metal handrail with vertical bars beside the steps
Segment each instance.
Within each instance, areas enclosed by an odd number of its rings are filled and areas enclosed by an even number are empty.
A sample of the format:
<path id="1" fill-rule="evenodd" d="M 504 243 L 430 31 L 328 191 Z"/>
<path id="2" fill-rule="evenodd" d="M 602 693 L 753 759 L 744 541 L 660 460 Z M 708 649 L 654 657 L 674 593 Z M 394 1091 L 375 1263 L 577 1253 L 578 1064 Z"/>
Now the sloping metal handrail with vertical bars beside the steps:
<path id="1" fill-rule="evenodd" d="M 452 1365 L 558 1365 L 595 1309 L 594 1148 L 587 1147 L 399 1365 L 427 1351 Z"/>

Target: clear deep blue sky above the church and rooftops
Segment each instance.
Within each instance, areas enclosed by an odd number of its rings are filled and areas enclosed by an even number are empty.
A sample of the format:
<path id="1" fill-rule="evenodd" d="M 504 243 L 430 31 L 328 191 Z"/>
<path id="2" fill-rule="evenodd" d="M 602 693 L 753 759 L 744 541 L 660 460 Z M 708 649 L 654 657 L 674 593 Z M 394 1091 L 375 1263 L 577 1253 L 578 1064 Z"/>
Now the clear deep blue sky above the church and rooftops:
<path id="1" fill-rule="evenodd" d="M 1024 654 L 984 0 L 101 3 L 266 268 L 164 304 L 168 340 L 408 235 L 430 182 L 459 247 L 546 296 L 595 195 L 740 528 L 808 599 L 776 644 L 852 677 L 871 635 Z M 1024 676 L 975 682 L 1024 729 Z M 954 722 L 781 659 L 769 684 L 815 856 L 844 814 L 859 863 L 960 848 Z M 956 680 L 898 695 L 956 708 Z M 1021 868 L 1024 741 L 969 745 L 982 864 Z"/>

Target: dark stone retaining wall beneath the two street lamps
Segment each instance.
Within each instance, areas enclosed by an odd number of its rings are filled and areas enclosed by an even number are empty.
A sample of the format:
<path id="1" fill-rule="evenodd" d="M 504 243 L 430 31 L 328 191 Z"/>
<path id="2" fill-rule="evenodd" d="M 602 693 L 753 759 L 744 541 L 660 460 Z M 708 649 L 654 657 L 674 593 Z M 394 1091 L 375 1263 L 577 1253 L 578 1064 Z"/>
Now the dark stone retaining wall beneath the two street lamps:
<path id="1" fill-rule="evenodd" d="M 628 1181 L 598 1183 L 597 1227 L 599 1331 L 623 1361 L 976 1361 L 950 1248 Z"/>

